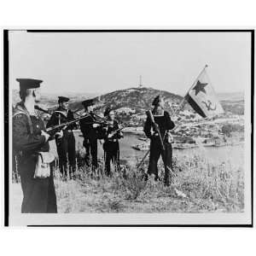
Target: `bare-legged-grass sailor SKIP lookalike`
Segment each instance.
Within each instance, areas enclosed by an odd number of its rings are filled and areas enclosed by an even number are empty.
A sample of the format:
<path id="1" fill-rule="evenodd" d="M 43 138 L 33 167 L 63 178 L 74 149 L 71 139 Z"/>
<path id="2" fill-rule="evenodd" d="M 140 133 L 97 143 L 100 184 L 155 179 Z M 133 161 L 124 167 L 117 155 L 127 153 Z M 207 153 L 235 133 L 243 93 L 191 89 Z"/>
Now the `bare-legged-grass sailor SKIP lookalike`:
<path id="1" fill-rule="evenodd" d="M 119 139 L 123 137 L 122 131 L 119 131 L 118 121 L 114 119 L 114 112 L 111 108 L 105 110 L 104 116 L 107 118 L 106 136 L 103 143 L 105 173 L 110 176 L 113 170 L 119 170 Z"/>

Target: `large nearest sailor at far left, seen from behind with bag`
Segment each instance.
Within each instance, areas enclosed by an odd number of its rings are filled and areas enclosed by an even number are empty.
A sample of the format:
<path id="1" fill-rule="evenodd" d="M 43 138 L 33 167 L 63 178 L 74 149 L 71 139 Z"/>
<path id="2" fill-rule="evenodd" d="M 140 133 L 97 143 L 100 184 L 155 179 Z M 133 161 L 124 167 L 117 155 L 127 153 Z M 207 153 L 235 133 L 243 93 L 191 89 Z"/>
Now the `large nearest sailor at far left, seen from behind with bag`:
<path id="1" fill-rule="evenodd" d="M 36 79 L 17 79 L 20 98 L 13 113 L 13 149 L 18 155 L 18 170 L 23 192 L 21 212 L 57 212 L 53 169 L 49 177 L 34 178 L 38 152 L 49 152 L 49 134 L 35 110 L 39 100 L 38 88 L 43 82 Z"/>

